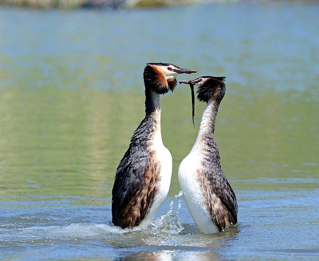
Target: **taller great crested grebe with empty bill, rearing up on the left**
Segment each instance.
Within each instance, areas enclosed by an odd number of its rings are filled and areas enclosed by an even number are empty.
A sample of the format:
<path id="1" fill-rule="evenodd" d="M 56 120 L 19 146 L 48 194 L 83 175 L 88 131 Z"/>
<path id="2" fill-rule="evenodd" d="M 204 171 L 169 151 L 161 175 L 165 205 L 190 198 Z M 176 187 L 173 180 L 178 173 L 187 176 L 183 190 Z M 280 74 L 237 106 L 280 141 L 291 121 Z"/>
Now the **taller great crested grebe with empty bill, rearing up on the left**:
<path id="1" fill-rule="evenodd" d="M 148 224 L 166 198 L 172 159 L 160 133 L 160 94 L 173 91 L 178 73 L 194 73 L 170 63 L 147 63 L 144 69 L 146 116 L 133 133 L 115 175 L 112 222 L 121 228 Z"/>

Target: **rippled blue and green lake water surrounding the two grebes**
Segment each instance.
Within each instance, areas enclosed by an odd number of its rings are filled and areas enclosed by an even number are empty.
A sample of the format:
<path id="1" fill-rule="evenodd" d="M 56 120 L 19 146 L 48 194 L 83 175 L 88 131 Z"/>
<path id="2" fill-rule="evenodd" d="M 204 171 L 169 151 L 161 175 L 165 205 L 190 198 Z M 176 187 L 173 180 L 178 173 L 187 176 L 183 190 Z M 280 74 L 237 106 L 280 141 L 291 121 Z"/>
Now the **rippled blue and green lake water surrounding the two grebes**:
<path id="1" fill-rule="evenodd" d="M 319 3 L 194 4 L 125 13 L 0 7 L 0 259 L 318 260 Z M 226 76 L 215 136 L 235 228 L 202 235 L 177 169 L 204 104 L 162 96 L 173 157 L 146 230 L 110 225 L 118 162 L 144 118 L 146 62 Z M 178 196 L 179 194 L 179 196 Z M 175 196 L 176 195 L 176 196 Z"/>

